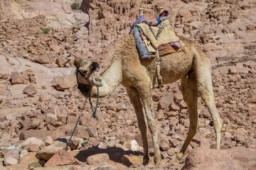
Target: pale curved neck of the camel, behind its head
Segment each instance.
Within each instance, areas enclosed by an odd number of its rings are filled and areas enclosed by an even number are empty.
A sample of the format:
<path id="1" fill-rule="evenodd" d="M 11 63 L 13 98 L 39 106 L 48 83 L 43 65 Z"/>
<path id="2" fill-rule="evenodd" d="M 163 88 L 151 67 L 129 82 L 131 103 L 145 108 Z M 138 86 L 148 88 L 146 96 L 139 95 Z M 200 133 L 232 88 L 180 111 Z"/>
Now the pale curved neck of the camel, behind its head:
<path id="1" fill-rule="evenodd" d="M 102 86 L 99 87 L 99 95 L 100 97 L 110 96 L 122 81 L 122 62 L 120 58 L 112 61 L 110 67 L 101 76 Z M 91 96 L 97 97 L 97 88 L 95 86 L 92 87 Z"/>

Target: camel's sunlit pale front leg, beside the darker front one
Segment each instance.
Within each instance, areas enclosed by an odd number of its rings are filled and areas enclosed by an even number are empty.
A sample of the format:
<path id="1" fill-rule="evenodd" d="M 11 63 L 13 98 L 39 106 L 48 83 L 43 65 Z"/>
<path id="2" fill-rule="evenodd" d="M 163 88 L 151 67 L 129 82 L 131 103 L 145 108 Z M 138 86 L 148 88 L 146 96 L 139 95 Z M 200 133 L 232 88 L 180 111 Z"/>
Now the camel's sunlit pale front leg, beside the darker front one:
<path id="1" fill-rule="evenodd" d="M 146 119 L 149 126 L 149 131 L 152 135 L 153 145 L 154 145 L 154 164 L 161 164 L 161 152 L 159 149 L 159 143 L 157 139 L 157 125 L 156 125 L 156 116 L 154 114 L 154 106 L 153 100 L 151 96 L 151 88 L 150 84 L 146 84 L 146 86 L 139 86 L 139 97 L 142 100 L 142 104 L 144 107 Z"/>

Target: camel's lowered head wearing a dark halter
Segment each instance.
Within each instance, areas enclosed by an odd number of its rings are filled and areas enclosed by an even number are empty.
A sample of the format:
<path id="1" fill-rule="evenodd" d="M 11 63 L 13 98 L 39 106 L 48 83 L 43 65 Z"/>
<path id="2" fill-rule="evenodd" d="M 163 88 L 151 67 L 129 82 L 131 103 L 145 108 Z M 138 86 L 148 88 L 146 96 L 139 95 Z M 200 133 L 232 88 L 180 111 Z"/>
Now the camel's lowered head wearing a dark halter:
<path id="1" fill-rule="evenodd" d="M 75 60 L 77 67 L 78 87 L 80 86 L 102 86 L 102 77 L 98 73 L 99 64 L 88 60 Z M 82 89 L 80 89 L 82 90 Z"/>

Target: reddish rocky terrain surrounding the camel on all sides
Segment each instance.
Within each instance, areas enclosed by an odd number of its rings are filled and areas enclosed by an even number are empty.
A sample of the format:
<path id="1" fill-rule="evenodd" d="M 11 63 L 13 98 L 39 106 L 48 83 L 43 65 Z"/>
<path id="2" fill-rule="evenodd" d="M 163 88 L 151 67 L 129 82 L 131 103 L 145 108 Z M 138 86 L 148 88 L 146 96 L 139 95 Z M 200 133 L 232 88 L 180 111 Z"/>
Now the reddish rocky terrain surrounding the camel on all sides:
<path id="1" fill-rule="evenodd" d="M 70 7 L 75 2 L 81 10 Z M 138 8 L 151 20 L 160 6 L 210 58 L 223 150 L 212 149 L 213 122 L 198 98 L 201 126 L 181 162 L 170 162 L 189 126 L 178 81 L 152 90 L 161 166 L 153 165 L 151 143 L 149 165 L 141 165 L 137 118 L 122 86 L 100 99 L 99 120 L 86 103 L 64 152 L 85 102 L 73 61 L 95 60 L 102 72 Z M 256 169 L 255 16 L 250 0 L 0 1 L 0 169 Z"/>

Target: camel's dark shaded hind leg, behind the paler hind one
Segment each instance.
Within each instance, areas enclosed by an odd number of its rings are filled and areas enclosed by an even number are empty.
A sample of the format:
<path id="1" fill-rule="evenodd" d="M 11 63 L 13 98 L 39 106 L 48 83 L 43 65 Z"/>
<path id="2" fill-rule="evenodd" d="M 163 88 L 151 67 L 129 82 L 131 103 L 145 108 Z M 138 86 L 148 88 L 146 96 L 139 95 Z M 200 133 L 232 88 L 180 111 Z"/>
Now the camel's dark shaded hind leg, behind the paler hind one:
<path id="1" fill-rule="evenodd" d="M 197 111 L 198 91 L 196 89 L 196 77 L 194 73 L 189 74 L 188 79 L 181 79 L 181 92 L 183 94 L 183 99 L 188 107 L 190 125 L 188 136 L 183 143 L 181 151 L 176 155 L 176 161 L 179 161 L 183 157 L 189 143 L 193 139 L 193 136 L 196 134 L 199 127 Z"/>

